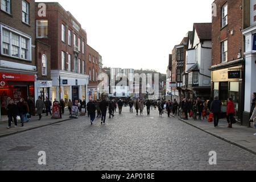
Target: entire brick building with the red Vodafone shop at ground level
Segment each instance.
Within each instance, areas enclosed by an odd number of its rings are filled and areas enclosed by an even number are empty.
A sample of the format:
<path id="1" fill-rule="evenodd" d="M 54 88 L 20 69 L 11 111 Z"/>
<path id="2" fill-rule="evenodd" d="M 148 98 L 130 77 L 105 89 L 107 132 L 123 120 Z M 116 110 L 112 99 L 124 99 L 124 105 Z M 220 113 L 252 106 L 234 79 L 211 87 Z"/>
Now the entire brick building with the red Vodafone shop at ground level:
<path id="1" fill-rule="evenodd" d="M 35 97 L 35 1 L 1 0 L 0 96 L 1 114 L 7 97 L 15 102 Z"/>

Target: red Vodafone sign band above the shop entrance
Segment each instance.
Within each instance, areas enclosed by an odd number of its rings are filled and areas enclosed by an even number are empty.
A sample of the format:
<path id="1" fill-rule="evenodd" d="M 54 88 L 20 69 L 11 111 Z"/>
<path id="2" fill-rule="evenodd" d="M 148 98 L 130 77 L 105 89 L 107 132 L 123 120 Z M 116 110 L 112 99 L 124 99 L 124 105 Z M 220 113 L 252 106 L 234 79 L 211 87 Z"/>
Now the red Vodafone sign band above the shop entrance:
<path id="1" fill-rule="evenodd" d="M 16 73 L 0 73 L 0 80 L 3 81 L 35 81 L 34 75 L 16 74 Z"/>

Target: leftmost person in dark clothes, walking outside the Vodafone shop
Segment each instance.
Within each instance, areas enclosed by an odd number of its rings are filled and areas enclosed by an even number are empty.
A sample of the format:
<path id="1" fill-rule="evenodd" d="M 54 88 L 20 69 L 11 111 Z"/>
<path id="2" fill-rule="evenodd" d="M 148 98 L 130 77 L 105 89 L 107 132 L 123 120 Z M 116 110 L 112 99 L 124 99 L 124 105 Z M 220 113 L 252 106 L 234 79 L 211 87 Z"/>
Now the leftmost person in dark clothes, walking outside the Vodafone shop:
<path id="1" fill-rule="evenodd" d="M 11 122 L 13 121 L 14 119 L 14 127 L 17 127 L 18 126 L 18 123 L 17 123 L 17 115 L 18 115 L 18 106 L 16 104 L 14 104 L 14 101 L 12 99 L 9 100 L 9 104 L 7 105 L 7 112 L 8 112 L 8 127 L 7 129 L 10 129 L 11 128 Z"/>

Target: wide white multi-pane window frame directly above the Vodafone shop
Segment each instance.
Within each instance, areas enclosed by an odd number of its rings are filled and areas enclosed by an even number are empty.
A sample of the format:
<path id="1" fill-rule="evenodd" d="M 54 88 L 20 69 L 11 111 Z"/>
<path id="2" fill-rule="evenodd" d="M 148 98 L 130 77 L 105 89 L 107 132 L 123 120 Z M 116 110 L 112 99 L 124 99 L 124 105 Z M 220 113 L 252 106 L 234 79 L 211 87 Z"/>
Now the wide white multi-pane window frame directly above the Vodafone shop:
<path id="1" fill-rule="evenodd" d="M 3 30 L 6 30 L 7 32 L 9 32 L 9 43 L 6 43 L 6 42 L 3 42 L 3 33 L 1 33 L 1 55 L 4 55 L 4 56 L 8 56 L 8 57 L 13 57 L 15 59 L 20 59 L 20 60 L 25 60 L 25 61 L 32 61 L 32 48 L 31 48 L 31 45 L 32 45 L 32 38 L 31 36 L 29 35 L 26 35 L 24 34 L 23 32 L 20 32 L 18 30 L 15 30 L 14 28 L 10 28 L 9 26 L 6 26 L 5 24 L 2 24 L 0 23 L 0 32 L 3 32 Z M 19 36 L 19 56 L 16 57 L 16 56 L 12 56 L 12 47 L 13 47 L 13 42 L 12 42 L 12 35 L 13 34 L 16 34 Z M 22 52 L 22 45 L 21 45 L 21 41 L 22 41 L 22 38 L 26 39 L 27 40 L 27 59 L 24 59 L 21 57 L 21 52 Z M 9 54 L 6 54 L 6 53 L 3 53 L 3 44 L 9 44 Z"/>

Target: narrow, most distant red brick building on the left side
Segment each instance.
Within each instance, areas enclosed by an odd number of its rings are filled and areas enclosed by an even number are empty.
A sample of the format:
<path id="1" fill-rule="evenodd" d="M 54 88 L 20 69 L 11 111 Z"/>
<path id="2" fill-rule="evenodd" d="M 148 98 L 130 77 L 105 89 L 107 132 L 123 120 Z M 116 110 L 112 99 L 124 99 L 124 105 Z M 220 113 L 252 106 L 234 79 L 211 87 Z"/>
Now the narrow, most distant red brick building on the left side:
<path id="1" fill-rule="evenodd" d="M 100 73 L 100 54 L 86 44 L 86 75 L 89 75 L 88 96 L 89 99 L 98 100 L 98 75 Z"/>

